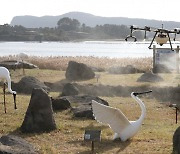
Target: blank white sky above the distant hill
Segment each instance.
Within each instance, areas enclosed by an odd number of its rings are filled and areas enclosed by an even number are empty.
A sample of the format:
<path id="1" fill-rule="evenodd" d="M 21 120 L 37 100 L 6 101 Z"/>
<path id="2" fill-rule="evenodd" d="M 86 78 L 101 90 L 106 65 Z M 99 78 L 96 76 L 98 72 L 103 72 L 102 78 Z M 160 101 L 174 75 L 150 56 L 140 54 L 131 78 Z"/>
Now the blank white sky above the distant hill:
<path id="1" fill-rule="evenodd" d="M 10 24 L 14 16 L 56 16 L 72 11 L 180 22 L 179 0 L 2 0 L 0 25 Z"/>

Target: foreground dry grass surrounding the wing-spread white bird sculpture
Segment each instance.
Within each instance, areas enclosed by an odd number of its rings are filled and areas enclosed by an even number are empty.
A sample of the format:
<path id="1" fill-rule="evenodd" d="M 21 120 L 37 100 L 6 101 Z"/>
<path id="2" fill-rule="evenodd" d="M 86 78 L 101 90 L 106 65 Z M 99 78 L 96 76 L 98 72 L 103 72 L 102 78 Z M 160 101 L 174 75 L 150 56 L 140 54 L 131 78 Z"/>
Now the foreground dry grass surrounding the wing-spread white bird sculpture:
<path id="1" fill-rule="evenodd" d="M 51 95 L 51 94 L 50 94 Z M 33 143 L 40 153 L 88 154 L 91 143 L 83 141 L 85 129 L 101 129 L 101 142 L 95 143 L 97 153 L 151 153 L 168 154 L 172 152 L 172 136 L 178 127 L 175 124 L 175 111 L 160 104 L 154 99 L 142 98 L 147 107 L 147 116 L 138 134 L 127 142 L 114 142 L 113 132 L 95 120 L 73 118 L 69 110 L 54 114 L 57 130 L 50 133 L 22 134 L 18 128 L 21 126 L 30 96 L 18 95 L 18 110 L 13 110 L 12 98 L 9 95 L 7 114 L 0 110 L 0 134 L 16 134 Z M 131 120 L 140 115 L 139 106 L 127 97 L 103 97 L 110 102 L 110 106 L 120 108 Z"/>

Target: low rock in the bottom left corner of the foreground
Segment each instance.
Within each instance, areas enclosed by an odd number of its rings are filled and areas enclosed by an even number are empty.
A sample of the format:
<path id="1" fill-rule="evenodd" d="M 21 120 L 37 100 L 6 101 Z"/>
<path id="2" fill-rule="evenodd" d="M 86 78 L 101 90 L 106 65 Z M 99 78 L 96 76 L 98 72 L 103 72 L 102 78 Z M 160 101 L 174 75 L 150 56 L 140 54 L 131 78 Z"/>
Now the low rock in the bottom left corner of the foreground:
<path id="1" fill-rule="evenodd" d="M 0 138 L 0 153 L 1 154 L 37 154 L 38 152 L 33 145 L 26 140 L 14 136 L 7 135 Z"/>

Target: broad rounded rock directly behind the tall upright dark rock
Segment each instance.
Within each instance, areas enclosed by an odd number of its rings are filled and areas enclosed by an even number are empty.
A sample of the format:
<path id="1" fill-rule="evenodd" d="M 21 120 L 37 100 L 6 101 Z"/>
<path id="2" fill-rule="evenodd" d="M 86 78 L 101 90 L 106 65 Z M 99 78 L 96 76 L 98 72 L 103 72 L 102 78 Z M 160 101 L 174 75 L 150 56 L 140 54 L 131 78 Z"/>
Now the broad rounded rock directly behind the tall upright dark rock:
<path id="1" fill-rule="evenodd" d="M 43 82 L 39 81 L 35 77 L 25 76 L 18 83 L 13 84 L 13 88 L 18 93 L 31 94 L 34 88 L 42 88 L 45 91 L 49 91 L 50 88 L 47 87 Z"/>

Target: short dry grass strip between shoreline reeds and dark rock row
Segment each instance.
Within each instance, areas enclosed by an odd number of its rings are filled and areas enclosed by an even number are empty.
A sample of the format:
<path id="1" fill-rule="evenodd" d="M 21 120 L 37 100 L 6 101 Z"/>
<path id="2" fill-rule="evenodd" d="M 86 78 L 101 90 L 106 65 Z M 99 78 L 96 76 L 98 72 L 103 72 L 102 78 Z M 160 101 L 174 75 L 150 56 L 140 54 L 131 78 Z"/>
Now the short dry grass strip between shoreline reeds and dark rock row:
<path id="1" fill-rule="evenodd" d="M 17 69 L 16 71 L 10 70 L 11 78 L 14 82 L 18 82 L 23 77 L 23 70 Z M 178 86 L 180 80 L 180 74 L 158 74 L 163 78 L 164 81 L 158 83 L 152 82 L 136 82 L 137 79 L 142 76 L 142 73 L 136 74 L 109 74 L 108 72 L 95 72 L 98 74 L 97 78 L 90 79 L 87 81 L 80 81 L 77 83 L 80 84 L 102 84 L 102 85 L 111 85 L 111 86 Z M 48 69 L 25 69 L 26 76 L 33 76 L 40 79 L 42 82 L 58 82 L 65 79 L 65 71 L 59 70 L 48 70 Z M 112 82 L 113 80 L 113 82 Z"/>

